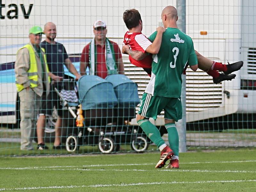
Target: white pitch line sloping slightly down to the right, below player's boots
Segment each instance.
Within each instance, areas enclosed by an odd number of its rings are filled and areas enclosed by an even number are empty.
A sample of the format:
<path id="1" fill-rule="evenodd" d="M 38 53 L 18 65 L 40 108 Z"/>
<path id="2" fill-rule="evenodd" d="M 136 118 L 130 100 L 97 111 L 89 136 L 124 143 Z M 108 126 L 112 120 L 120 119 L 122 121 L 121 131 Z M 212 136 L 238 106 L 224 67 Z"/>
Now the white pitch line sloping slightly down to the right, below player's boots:
<path id="1" fill-rule="evenodd" d="M 8 168 L 9 170 L 17 170 L 16 168 Z M 22 169 L 19 169 L 22 170 Z M 154 172 L 155 170 L 144 170 L 144 169 L 56 169 L 56 168 L 26 168 L 23 170 L 41 170 L 41 171 L 91 171 L 91 172 L 100 172 L 100 171 L 109 171 L 109 172 L 123 172 L 123 171 L 130 171 L 130 172 Z M 212 173 L 256 173 L 256 171 L 239 171 L 239 170 L 183 170 L 183 169 L 159 169 L 157 171 L 160 172 L 212 172 Z"/>

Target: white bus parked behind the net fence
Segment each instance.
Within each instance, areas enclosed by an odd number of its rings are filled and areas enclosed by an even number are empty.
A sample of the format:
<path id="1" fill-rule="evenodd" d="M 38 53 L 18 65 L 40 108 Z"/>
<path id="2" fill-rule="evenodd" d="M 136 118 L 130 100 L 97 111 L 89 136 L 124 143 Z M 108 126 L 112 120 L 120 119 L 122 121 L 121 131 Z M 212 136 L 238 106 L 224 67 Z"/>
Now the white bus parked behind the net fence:
<path id="1" fill-rule="evenodd" d="M 17 50 L 28 43 L 28 30 L 33 25 L 44 26 L 52 21 L 57 25 L 56 41 L 63 43 L 76 68 L 79 54 L 93 37 L 95 20 L 107 23 L 108 38 L 121 48 L 127 28 L 122 20 L 128 8 L 140 11 L 143 30 L 149 36 L 161 25 L 161 11 L 176 1 L 33 1 L 0 0 L 0 123 L 15 124 L 18 119 L 14 61 Z M 186 121 L 209 122 L 216 118 L 234 121 L 235 117 L 254 118 L 256 113 L 256 5 L 253 0 L 186 1 L 186 33 L 192 37 L 195 49 L 212 60 L 222 63 L 244 61 L 236 78 L 213 84 L 204 71 L 186 76 Z M 201 35 L 206 34 L 206 35 Z M 44 38 L 44 36 L 43 36 Z M 143 71 L 130 64 L 123 55 L 125 75 L 136 82 L 141 96 L 149 81 Z M 235 115 L 234 115 L 235 114 Z M 231 116 L 230 116 L 231 115 Z M 217 119 L 217 120 L 218 120 Z M 245 120 L 246 119 L 242 119 Z M 251 120 L 253 121 L 253 119 Z M 163 115 L 155 124 L 163 125 Z M 220 120 L 221 122 L 221 120 Z M 133 121 L 133 123 L 136 123 Z M 195 126 L 195 124 L 193 124 Z"/>

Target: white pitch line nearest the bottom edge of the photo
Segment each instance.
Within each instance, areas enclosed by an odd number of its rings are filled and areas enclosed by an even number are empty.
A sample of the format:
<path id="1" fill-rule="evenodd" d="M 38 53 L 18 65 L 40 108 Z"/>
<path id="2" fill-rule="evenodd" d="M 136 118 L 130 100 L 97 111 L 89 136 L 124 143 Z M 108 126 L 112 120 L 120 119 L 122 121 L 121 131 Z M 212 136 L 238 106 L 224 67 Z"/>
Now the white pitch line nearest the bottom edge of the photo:
<path id="1" fill-rule="evenodd" d="M 237 183 L 256 182 L 256 180 L 208 180 L 208 181 L 172 181 L 172 182 L 150 182 L 150 183 L 121 183 L 121 184 L 95 184 L 95 185 L 69 185 L 69 186 L 48 186 L 48 187 L 24 187 L 24 188 L 0 188 L 0 191 L 10 190 L 37 190 L 37 189 L 61 189 L 61 188 L 99 188 L 99 187 L 126 187 L 138 185 L 161 185 L 161 184 L 204 184 L 204 183 Z"/>

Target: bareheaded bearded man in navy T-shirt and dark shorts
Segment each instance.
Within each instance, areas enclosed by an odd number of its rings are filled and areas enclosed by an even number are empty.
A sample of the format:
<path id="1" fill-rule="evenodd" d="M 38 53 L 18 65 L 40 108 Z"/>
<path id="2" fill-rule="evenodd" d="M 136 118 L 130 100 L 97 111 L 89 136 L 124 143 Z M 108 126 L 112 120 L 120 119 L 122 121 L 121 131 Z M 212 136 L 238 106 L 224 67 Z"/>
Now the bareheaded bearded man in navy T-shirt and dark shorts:
<path id="1" fill-rule="evenodd" d="M 69 72 L 76 76 L 76 79 L 79 79 L 81 76 L 76 71 L 76 68 L 68 58 L 63 44 L 55 42 L 54 39 L 57 34 L 56 25 L 52 22 L 48 22 L 44 25 L 44 34 L 46 36 L 45 40 L 41 43 L 41 47 L 45 49 L 46 60 L 49 66 L 49 71 L 53 75 L 58 76 L 57 81 L 63 79 L 64 68 L 63 64 L 68 68 Z M 48 147 L 44 144 L 44 127 L 46 116 L 52 115 L 53 106 L 57 109 L 57 121 L 55 124 L 55 140 L 53 149 L 61 149 L 61 129 L 62 127 L 62 106 L 60 105 L 60 99 L 58 98 L 57 93 L 54 91 L 53 84 L 56 81 L 53 81 L 50 88 L 50 93 L 48 95 L 43 94 L 41 100 L 41 111 L 39 118 L 37 120 L 37 139 L 38 139 L 38 149 L 43 150 Z"/>

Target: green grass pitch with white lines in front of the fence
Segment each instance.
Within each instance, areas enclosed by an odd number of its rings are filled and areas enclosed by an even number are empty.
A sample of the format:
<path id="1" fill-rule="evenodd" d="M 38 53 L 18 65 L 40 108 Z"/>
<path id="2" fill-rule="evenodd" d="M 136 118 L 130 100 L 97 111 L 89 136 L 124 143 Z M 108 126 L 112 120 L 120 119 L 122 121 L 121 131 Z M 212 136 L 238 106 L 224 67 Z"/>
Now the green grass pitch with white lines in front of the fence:
<path id="1" fill-rule="evenodd" d="M 1 157 L 0 190 L 256 191 L 256 148 L 181 153 L 178 170 L 156 170 L 158 159 L 159 153 Z"/>

